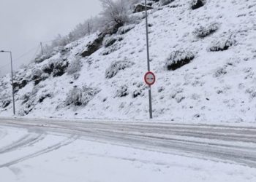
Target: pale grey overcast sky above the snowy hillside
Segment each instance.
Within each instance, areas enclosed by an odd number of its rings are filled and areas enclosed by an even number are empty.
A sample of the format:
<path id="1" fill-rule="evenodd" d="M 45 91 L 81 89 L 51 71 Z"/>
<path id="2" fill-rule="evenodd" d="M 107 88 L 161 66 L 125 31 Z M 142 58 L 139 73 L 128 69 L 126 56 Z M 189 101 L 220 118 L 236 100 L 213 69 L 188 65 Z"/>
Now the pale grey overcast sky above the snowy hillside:
<path id="1" fill-rule="evenodd" d="M 34 57 L 40 41 L 72 31 L 75 25 L 99 14 L 99 0 L 0 0 L 0 50 L 11 50 L 18 68 Z M 34 50 L 32 50 L 34 48 Z M 10 56 L 0 53 L 0 75 L 10 72 Z"/>

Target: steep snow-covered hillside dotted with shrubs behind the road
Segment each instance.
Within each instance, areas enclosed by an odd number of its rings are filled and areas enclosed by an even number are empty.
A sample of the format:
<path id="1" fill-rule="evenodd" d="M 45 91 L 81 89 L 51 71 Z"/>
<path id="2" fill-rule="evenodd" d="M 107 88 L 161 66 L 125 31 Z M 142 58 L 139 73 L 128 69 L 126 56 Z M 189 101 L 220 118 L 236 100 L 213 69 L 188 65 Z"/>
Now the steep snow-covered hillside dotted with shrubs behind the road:
<path id="1" fill-rule="evenodd" d="M 256 123 L 256 0 L 152 6 L 154 118 Z M 18 116 L 148 119 L 144 13 L 131 16 L 139 21 L 86 36 L 17 71 Z M 0 116 L 12 115 L 10 91 L 7 75 L 0 79 Z"/>

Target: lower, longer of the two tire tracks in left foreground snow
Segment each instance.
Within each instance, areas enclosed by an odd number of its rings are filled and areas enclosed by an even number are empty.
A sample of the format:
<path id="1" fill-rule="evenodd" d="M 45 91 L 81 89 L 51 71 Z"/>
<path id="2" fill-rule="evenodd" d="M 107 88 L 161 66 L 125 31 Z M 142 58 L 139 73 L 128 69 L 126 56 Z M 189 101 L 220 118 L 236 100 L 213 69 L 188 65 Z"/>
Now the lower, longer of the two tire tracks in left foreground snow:
<path id="1" fill-rule="evenodd" d="M 63 146 L 69 145 L 70 143 L 76 141 L 78 138 L 79 138 L 79 135 L 72 135 L 69 138 L 66 138 L 64 141 L 56 143 L 56 144 L 54 144 L 52 146 L 48 146 L 46 149 L 42 149 L 42 150 L 36 151 L 36 152 L 34 152 L 32 154 L 20 157 L 18 159 L 14 159 L 14 160 L 12 160 L 10 162 L 7 162 L 7 163 L 5 163 L 3 165 L 0 165 L 0 169 L 3 168 L 3 167 L 10 167 L 12 165 L 16 165 L 16 164 L 18 164 L 20 162 L 23 162 L 23 161 L 27 160 L 27 159 L 38 157 L 38 156 L 40 156 L 42 154 L 47 154 L 50 151 L 55 151 L 57 149 L 60 149 Z"/>

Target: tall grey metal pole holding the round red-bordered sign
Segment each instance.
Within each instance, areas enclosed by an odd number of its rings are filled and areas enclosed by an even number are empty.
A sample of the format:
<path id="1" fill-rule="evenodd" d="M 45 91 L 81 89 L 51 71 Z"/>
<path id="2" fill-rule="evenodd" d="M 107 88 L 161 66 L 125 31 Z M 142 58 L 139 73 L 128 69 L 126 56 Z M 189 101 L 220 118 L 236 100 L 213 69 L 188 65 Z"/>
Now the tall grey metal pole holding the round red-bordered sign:
<path id="1" fill-rule="evenodd" d="M 149 59 L 149 43 L 148 43 L 148 9 L 147 1 L 145 0 L 145 12 L 146 12 L 146 42 L 147 42 L 147 60 L 148 60 L 148 71 L 150 71 L 150 59 Z M 153 118 L 152 114 L 152 95 L 151 95 L 151 85 L 148 86 L 148 98 L 149 98 L 149 117 Z"/>

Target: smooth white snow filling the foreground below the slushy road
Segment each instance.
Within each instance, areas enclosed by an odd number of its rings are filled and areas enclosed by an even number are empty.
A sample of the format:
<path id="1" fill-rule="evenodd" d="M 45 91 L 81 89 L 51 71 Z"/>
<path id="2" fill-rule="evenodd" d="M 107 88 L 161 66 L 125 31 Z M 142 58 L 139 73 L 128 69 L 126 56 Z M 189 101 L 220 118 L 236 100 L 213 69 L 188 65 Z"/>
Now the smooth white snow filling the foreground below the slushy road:
<path id="1" fill-rule="evenodd" d="M 30 140 L 17 145 L 26 141 L 24 136 Z M 75 135 L 0 127 L 0 141 L 1 181 L 256 180 L 255 169 L 250 167 L 86 141 Z"/>

